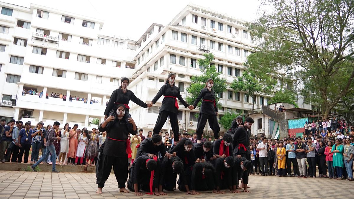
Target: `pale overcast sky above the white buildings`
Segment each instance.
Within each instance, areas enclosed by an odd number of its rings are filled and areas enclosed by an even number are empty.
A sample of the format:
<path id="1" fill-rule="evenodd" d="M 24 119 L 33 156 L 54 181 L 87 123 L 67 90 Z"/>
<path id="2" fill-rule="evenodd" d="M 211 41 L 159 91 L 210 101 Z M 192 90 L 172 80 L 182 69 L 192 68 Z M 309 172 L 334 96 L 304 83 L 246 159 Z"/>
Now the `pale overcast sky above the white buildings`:
<path id="1" fill-rule="evenodd" d="M 186 5 L 209 7 L 218 13 L 252 21 L 259 0 L 0 0 L 29 7 L 30 3 L 102 19 L 103 33 L 138 40 L 152 23 L 168 24 Z"/>

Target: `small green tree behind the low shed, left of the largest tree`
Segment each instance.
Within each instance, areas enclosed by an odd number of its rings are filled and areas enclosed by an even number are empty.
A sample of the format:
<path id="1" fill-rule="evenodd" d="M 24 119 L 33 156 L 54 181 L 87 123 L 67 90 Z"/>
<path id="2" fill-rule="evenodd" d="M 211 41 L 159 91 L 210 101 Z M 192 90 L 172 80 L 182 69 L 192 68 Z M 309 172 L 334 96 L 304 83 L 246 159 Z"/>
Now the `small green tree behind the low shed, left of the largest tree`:
<path id="1" fill-rule="evenodd" d="M 234 89 L 236 92 L 244 91 L 245 94 L 251 96 L 252 98 L 252 112 L 255 107 L 255 94 L 263 93 L 270 94 L 274 89 L 274 79 L 269 75 L 256 75 L 252 70 L 245 70 L 242 76 L 234 79 L 230 88 Z"/>

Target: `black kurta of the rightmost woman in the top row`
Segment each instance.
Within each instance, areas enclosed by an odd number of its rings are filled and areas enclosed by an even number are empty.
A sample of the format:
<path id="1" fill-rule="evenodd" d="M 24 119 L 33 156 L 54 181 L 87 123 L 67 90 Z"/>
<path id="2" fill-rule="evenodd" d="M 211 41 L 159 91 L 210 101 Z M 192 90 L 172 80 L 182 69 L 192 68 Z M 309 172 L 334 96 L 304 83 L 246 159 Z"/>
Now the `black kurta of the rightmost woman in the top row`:
<path id="1" fill-rule="evenodd" d="M 207 115 L 216 115 L 216 112 L 218 112 L 218 108 L 216 107 L 216 104 L 214 105 L 215 92 L 212 89 L 211 89 L 211 91 L 209 91 L 207 88 L 202 89 L 199 93 L 199 96 L 194 101 L 194 104 L 193 104 L 194 108 L 197 107 L 199 101 L 202 98 L 212 101 L 212 102 L 203 100 L 201 102 L 199 113 L 203 113 L 203 114 L 207 114 Z"/>

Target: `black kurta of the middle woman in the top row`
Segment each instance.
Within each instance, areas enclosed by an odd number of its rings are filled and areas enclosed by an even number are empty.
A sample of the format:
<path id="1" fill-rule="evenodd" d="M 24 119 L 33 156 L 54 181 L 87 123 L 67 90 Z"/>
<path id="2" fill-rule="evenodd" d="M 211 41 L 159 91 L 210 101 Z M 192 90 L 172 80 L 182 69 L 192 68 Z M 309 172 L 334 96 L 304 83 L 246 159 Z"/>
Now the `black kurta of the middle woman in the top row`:
<path id="1" fill-rule="evenodd" d="M 152 102 L 155 104 L 160 99 L 160 97 L 162 95 L 177 97 L 179 99 L 179 101 L 182 102 L 182 104 L 184 105 L 185 108 L 188 107 L 188 104 L 182 98 L 181 92 L 179 91 L 177 86 L 172 86 L 171 87 L 170 84 L 165 84 L 165 85 L 161 86 L 161 89 L 156 94 L 156 96 L 154 97 Z M 162 100 L 160 112 L 163 111 L 163 110 L 167 110 L 169 112 L 178 114 L 178 109 L 175 107 L 175 103 L 176 103 L 176 99 L 175 98 L 165 97 Z"/>

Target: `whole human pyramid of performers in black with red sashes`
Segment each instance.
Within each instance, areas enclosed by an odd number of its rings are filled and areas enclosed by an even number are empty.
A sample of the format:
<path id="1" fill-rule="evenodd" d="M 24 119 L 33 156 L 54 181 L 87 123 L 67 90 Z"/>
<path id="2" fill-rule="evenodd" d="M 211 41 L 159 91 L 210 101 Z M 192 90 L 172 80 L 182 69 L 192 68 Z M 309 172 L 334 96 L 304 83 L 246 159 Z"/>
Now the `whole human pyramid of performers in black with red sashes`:
<path id="1" fill-rule="evenodd" d="M 174 191 L 176 183 L 180 191 L 192 195 L 200 194 L 198 191 L 208 190 L 212 193 L 225 193 L 223 189 L 229 189 L 231 193 L 240 193 L 239 189 L 243 188 L 244 192 L 249 192 L 247 184 L 252 168 L 250 136 L 253 119 L 248 117 L 243 121 L 241 117 L 235 118 L 228 132 L 219 139 L 220 127 L 217 121 L 215 92 L 212 90 L 213 80 L 208 79 L 195 102 L 188 105 L 175 86 L 175 79 L 176 75 L 170 73 L 165 85 L 150 103 L 144 103 L 132 91 L 127 90 L 128 78 L 121 79 L 121 86 L 113 91 L 105 109 L 105 120 L 98 126 L 100 132 L 107 133 L 107 138 L 99 149 L 101 153 L 96 165 L 97 193 L 102 193 L 112 166 L 119 191 L 125 193 L 133 191 L 135 195 L 143 195 L 141 191 L 166 195 L 163 191 Z M 153 136 L 136 146 L 137 154 L 128 171 L 128 158 L 132 157 L 129 134 L 137 134 L 137 126 L 129 114 L 129 101 L 149 108 L 162 95 L 164 99 Z M 202 100 L 196 128 L 198 140 L 196 143 L 187 138 L 179 140 L 177 98 L 184 107 L 191 110 Z M 159 132 L 168 117 L 174 144 L 166 151 Z M 207 120 L 214 132 L 213 143 L 210 141 L 201 143 Z M 129 190 L 125 188 L 126 182 Z"/>

